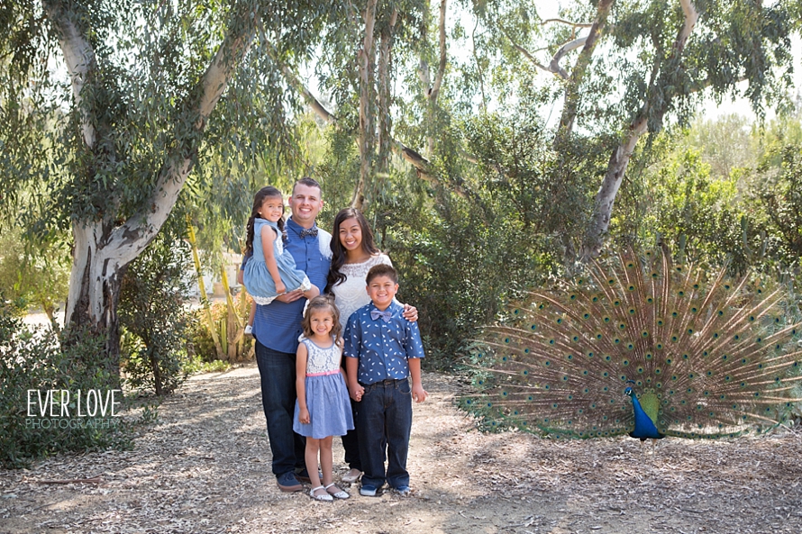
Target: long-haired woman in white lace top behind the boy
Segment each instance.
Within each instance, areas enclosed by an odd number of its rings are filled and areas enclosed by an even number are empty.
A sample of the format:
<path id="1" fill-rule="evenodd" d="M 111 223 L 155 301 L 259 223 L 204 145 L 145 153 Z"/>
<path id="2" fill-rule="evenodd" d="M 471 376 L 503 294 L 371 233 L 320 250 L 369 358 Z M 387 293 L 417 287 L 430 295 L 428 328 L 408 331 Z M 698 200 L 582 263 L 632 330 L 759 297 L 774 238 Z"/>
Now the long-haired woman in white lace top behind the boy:
<path id="1" fill-rule="evenodd" d="M 351 313 L 370 302 L 365 291 L 365 276 L 370 267 L 384 263 L 393 265 L 387 254 L 383 254 L 373 242 L 365 216 L 356 208 L 345 208 L 334 217 L 332 232 L 332 267 L 326 283 L 326 293 L 334 295 L 334 303 L 340 310 L 342 329 L 348 323 Z M 404 317 L 408 321 L 417 321 L 418 312 L 413 306 L 405 304 Z M 351 408 L 356 410 L 356 403 L 351 401 Z M 356 413 L 354 413 L 356 421 Z M 351 470 L 342 476 L 342 482 L 354 483 L 362 475 L 360 462 L 360 445 L 357 430 L 349 430 L 342 437 L 345 448 L 345 462 Z"/>

